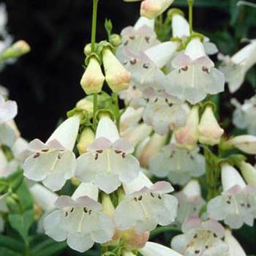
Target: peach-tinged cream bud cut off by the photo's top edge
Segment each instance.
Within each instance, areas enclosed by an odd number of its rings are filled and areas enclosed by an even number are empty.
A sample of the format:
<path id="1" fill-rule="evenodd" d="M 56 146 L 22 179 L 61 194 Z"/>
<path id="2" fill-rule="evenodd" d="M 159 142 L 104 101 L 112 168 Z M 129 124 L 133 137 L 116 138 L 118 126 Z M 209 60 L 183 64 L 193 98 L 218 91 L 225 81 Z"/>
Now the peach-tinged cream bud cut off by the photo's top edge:
<path id="1" fill-rule="evenodd" d="M 165 12 L 174 0 L 144 0 L 140 5 L 140 15 L 146 18 L 156 18 Z"/>

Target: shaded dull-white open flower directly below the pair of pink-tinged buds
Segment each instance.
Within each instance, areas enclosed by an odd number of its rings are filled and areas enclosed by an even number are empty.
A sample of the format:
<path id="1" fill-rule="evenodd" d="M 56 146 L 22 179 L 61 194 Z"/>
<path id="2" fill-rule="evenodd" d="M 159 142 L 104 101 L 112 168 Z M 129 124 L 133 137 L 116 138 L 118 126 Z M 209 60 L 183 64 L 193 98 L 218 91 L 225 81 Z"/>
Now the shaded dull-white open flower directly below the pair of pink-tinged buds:
<path id="1" fill-rule="evenodd" d="M 198 151 L 199 148 L 187 151 L 170 143 L 150 159 L 149 170 L 157 177 L 184 185 L 191 177 L 202 176 L 206 171 L 205 159 Z"/>

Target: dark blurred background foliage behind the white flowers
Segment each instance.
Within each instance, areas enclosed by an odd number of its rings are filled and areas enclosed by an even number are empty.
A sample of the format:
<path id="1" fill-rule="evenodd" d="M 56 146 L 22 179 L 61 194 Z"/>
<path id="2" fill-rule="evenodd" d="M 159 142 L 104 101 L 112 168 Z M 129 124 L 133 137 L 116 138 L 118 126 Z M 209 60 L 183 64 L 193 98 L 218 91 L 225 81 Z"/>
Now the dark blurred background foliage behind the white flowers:
<path id="1" fill-rule="evenodd" d="M 90 40 L 90 0 L 1 0 L 7 4 L 8 31 L 15 39 L 26 39 L 31 53 L 1 72 L 0 84 L 10 89 L 10 98 L 18 102 L 16 121 L 23 137 L 45 140 L 56 127 L 59 118 L 83 97 L 80 77 L 83 74 L 83 47 Z M 252 1 L 255 2 L 256 1 Z M 100 0 L 97 39 L 105 39 L 105 18 L 113 22 L 113 31 L 135 23 L 140 3 L 122 0 Z M 187 15 L 187 1 L 176 0 Z M 236 53 L 246 45 L 246 39 L 256 39 L 256 9 L 237 7 L 237 0 L 195 0 L 194 29 L 217 44 L 223 54 Z M 243 39 L 243 40 L 241 40 Z M 217 60 L 217 56 L 214 56 Z M 230 97 L 241 102 L 252 97 L 256 89 L 256 69 L 251 69 L 244 86 L 235 95 L 226 90 L 222 94 L 222 117 L 230 118 L 233 108 Z M 225 121 L 224 119 L 221 121 Z M 155 236 L 156 241 L 169 245 L 176 231 Z M 249 255 L 256 255 L 256 228 L 243 227 L 236 237 Z M 5 238 L 4 238 L 5 239 Z M 13 241 L 4 241 L 1 244 Z M 67 249 L 65 243 L 56 244 L 45 236 L 33 238 L 32 255 L 79 255 Z M 17 247 L 18 248 L 18 247 Z M 66 250 L 66 251 L 64 251 Z M 64 254 L 62 254 L 64 252 Z M 98 251 L 86 255 L 98 255 Z M 0 255 L 9 255 L 2 251 Z M 10 254 L 11 255 L 11 254 Z"/>

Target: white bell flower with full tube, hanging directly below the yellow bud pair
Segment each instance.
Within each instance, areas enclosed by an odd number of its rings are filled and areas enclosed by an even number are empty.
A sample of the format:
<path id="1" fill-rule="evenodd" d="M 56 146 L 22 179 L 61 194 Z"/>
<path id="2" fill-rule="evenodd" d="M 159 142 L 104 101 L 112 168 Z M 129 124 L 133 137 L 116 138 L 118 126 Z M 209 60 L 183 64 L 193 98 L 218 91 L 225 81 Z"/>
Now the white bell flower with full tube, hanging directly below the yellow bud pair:
<path id="1" fill-rule="evenodd" d="M 88 152 L 77 159 L 75 176 L 84 182 L 93 181 L 106 193 L 116 190 L 121 182 L 138 176 L 140 165 L 131 155 L 134 148 L 128 140 L 120 138 L 116 124 L 108 117 L 100 118 L 96 139 Z"/>

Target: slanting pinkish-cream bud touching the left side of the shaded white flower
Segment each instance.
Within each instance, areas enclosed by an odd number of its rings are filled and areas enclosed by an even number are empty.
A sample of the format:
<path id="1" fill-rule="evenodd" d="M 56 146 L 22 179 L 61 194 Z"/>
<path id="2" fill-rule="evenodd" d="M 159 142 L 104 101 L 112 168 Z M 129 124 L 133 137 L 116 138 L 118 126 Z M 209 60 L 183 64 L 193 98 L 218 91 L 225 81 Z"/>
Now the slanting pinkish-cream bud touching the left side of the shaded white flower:
<path id="1" fill-rule="evenodd" d="M 154 155 L 157 154 L 161 150 L 163 146 L 165 146 L 165 142 L 167 140 L 167 135 L 162 136 L 154 133 L 151 139 L 146 143 L 146 146 L 139 153 L 139 161 L 141 167 L 148 167 L 149 159 Z"/>

